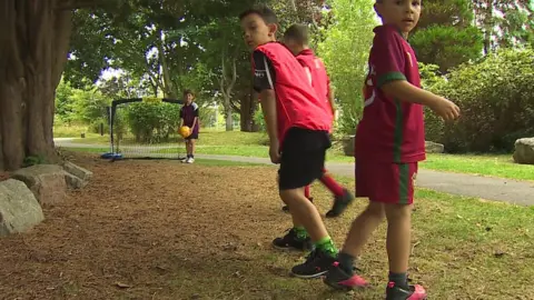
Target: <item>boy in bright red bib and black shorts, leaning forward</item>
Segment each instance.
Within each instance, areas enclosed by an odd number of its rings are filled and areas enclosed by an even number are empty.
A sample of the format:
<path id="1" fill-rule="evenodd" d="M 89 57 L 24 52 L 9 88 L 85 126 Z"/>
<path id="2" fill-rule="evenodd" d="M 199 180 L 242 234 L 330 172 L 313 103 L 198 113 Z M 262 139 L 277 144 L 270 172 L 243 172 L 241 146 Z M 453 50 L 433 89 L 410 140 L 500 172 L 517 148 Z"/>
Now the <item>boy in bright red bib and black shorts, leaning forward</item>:
<path id="1" fill-rule="evenodd" d="M 254 87 L 260 94 L 269 136 L 269 156 L 279 163 L 278 188 L 289 206 L 294 228 L 273 241 L 275 248 L 310 250 L 305 263 L 291 269 L 299 278 L 316 278 L 334 263 L 334 246 L 317 208 L 304 188 L 323 176 L 332 113 L 309 84 L 293 53 L 276 42 L 277 18 L 266 7 L 239 16 L 244 38 L 253 49 Z"/>

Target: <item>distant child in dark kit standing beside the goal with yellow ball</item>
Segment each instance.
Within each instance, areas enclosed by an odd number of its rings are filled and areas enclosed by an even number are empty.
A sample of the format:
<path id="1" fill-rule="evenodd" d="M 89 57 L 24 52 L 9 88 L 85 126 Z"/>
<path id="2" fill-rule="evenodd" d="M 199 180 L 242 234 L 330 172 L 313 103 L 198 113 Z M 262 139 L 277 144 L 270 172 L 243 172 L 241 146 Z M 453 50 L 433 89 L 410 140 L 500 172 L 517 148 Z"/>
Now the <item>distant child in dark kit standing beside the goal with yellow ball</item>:
<path id="1" fill-rule="evenodd" d="M 187 158 L 184 162 L 194 163 L 195 162 L 195 142 L 198 140 L 198 104 L 194 102 L 195 93 L 191 90 L 184 91 L 184 101 L 186 102 L 180 109 L 180 128 L 187 126 L 191 129 L 191 134 L 189 134 L 186 140 L 186 151 Z"/>

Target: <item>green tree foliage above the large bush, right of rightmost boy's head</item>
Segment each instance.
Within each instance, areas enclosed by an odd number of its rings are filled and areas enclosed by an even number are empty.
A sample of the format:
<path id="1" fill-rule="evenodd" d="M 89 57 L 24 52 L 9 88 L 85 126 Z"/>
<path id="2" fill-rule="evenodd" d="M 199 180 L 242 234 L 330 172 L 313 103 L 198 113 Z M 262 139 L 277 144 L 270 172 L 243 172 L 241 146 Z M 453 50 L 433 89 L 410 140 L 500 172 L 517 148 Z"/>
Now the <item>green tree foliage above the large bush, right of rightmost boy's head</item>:
<path id="1" fill-rule="evenodd" d="M 439 66 L 442 72 L 482 56 L 483 34 L 473 26 L 473 7 L 468 0 L 424 2 L 417 28 L 409 38 L 424 63 Z"/>

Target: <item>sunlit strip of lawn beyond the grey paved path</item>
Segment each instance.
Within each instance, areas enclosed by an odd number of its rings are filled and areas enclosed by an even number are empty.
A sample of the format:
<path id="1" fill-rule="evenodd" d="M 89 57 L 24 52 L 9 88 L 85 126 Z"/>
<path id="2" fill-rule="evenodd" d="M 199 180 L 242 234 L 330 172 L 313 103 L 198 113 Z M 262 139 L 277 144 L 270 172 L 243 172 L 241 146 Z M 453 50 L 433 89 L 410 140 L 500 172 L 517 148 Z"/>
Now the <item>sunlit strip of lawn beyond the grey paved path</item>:
<path id="1" fill-rule="evenodd" d="M 91 136 L 86 139 L 77 139 L 73 142 L 105 146 L 109 143 L 109 137 Z M 131 140 L 122 144 L 131 144 Z M 267 158 L 268 147 L 266 144 L 267 137 L 265 133 L 202 130 L 200 140 L 198 141 L 197 153 Z M 178 150 L 154 150 L 154 152 L 158 153 L 172 153 L 174 151 Z M 335 143 L 333 148 L 328 150 L 327 159 L 328 161 L 336 162 L 354 162 L 354 158 L 343 154 L 340 144 L 338 143 Z M 431 153 L 427 160 L 421 164 L 421 168 L 534 181 L 534 166 L 516 164 L 512 160 L 512 154 L 475 156 Z"/>

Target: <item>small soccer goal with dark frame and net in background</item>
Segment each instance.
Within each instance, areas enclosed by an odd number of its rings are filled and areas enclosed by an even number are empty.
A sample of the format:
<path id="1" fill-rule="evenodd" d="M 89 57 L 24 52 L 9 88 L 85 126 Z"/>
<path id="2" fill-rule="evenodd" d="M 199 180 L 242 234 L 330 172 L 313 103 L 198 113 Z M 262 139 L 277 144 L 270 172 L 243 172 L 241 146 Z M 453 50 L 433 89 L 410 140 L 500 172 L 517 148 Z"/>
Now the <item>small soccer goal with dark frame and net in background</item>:
<path id="1" fill-rule="evenodd" d="M 185 159 L 178 133 L 184 100 L 119 99 L 108 107 L 109 148 L 103 159 Z"/>

